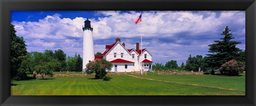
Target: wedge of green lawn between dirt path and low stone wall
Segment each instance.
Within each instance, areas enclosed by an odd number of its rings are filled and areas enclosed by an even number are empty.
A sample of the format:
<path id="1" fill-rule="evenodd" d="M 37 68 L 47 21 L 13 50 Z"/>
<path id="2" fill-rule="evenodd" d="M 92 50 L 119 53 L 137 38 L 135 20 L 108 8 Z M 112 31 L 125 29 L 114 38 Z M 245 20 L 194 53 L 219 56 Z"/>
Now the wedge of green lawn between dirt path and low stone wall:
<path id="1" fill-rule="evenodd" d="M 239 74 L 239 76 L 224 76 L 224 75 L 159 75 L 158 76 L 157 72 L 147 72 L 147 76 L 139 76 L 139 77 L 175 81 L 180 83 L 234 88 L 234 89 L 240 89 L 245 91 L 245 73 Z"/>

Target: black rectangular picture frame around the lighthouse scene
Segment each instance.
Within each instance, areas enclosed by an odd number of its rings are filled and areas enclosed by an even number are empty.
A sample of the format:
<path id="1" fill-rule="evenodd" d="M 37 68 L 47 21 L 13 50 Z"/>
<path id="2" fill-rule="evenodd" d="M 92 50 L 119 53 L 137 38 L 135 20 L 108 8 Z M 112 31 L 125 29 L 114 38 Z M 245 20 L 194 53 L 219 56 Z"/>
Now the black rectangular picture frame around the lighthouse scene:
<path id="1" fill-rule="evenodd" d="M 0 0 L 0 105 L 255 105 L 255 0 Z M 11 96 L 12 10 L 241 10 L 246 11 L 245 96 Z"/>

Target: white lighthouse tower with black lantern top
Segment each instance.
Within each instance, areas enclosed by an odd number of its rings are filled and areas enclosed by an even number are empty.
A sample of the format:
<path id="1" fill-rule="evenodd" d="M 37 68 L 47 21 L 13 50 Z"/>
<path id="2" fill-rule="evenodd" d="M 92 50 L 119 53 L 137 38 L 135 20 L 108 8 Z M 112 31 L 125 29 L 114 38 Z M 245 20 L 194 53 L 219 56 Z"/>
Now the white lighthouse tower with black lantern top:
<path id="1" fill-rule="evenodd" d="M 83 31 L 84 31 L 84 38 L 83 38 L 83 71 L 85 71 L 86 64 L 90 61 L 93 61 L 94 56 L 94 48 L 93 48 L 93 38 L 92 38 L 92 30 L 91 21 L 85 20 Z"/>

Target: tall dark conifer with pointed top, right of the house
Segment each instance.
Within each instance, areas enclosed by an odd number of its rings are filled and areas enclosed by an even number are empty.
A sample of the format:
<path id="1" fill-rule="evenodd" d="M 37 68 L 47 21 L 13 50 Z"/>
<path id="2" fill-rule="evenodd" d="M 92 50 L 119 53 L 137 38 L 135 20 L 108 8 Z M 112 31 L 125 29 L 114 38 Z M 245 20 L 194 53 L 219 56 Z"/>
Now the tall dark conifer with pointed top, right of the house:
<path id="1" fill-rule="evenodd" d="M 241 60 L 239 53 L 242 51 L 236 47 L 237 44 L 241 42 L 230 41 L 234 37 L 230 32 L 231 30 L 226 26 L 225 30 L 222 32 L 223 38 L 221 40 L 215 40 L 214 44 L 208 45 L 209 52 L 212 54 L 206 54 L 207 65 L 211 68 L 220 68 L 221 65 L 230 60 Z M 242 54 L 242 53 L 241 53 Z"/>

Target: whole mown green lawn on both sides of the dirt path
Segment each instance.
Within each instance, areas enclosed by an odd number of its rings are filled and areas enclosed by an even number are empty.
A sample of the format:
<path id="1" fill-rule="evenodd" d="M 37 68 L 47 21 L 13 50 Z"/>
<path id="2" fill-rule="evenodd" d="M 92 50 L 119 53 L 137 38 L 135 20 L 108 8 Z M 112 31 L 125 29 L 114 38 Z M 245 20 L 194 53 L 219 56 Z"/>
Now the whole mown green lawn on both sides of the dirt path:
<path id="1" fill-rule="evenodd" d="M 54 77 L 12 81 L 11 95 L 245 95 L 245 74 L 242 76 L 170 75 L 148 72 L 143 78 L 234 88 L 219 88 L 167 83 L 132 76 L 111 76 L 110 81 L 93 77 Z"/>

